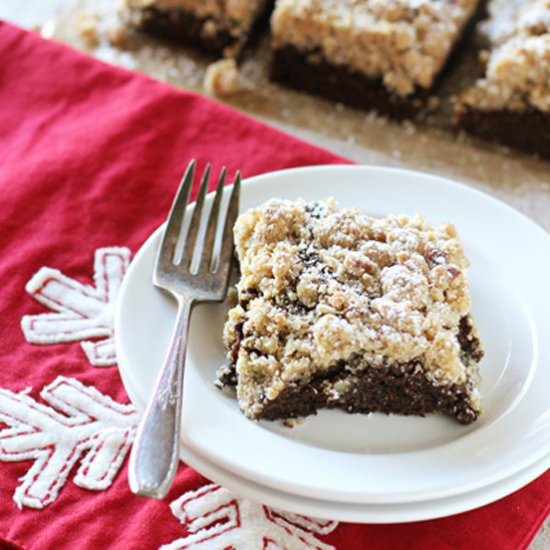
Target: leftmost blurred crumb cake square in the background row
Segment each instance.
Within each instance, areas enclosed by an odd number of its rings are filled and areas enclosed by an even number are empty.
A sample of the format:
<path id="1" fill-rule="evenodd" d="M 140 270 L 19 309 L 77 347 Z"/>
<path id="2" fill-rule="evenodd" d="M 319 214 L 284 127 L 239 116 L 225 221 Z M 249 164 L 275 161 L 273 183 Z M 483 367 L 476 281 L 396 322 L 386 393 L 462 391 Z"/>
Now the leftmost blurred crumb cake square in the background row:
<path id="1" fill-rule="evenodd" d="M 218 57 L 238 57 L 273 0 L 124 0 L 142 30 Z"/>

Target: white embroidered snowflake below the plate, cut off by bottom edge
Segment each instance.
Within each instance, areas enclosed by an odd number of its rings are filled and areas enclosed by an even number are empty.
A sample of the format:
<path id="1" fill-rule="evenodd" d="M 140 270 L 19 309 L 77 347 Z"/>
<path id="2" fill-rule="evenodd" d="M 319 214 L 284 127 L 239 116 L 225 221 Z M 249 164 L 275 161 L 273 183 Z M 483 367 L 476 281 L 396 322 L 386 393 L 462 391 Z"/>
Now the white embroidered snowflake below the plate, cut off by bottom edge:
<path id="1" fill-rule="evenodd" d="M 334 550 L 318 535 L 334 531 L 337 522 L 279 512 L 219 485 L 184 493 L 170 508 L 189 535 L 161 550 Z"/>

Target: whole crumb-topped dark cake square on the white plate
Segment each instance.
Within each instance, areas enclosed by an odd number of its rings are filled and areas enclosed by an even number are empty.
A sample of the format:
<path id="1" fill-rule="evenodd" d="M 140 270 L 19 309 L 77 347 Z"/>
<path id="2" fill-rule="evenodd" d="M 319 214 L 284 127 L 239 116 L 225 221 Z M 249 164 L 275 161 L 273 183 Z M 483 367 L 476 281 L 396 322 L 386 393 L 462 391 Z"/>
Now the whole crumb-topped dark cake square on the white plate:
<path id="1" fill-rule="evenodd" d="M 220 385 L 253 419 L 322 408 L 480 414 L 483 356 L 452 225 L 271 200 L 235 225 L 241 278 Z"/>

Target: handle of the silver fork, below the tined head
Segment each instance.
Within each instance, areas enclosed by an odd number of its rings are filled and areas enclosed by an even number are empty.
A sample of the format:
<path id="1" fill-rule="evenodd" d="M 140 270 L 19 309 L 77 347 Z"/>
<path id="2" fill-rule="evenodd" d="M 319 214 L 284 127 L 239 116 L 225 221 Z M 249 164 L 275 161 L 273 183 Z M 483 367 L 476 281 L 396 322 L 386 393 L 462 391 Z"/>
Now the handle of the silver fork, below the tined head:
<path id="1" fill-rule="evenodd" d="M 179 463 L 183 373 L 193 301 L 176 296 L 178 312 L 164 366 L 159 374 L 130 454 L 130 489 L 164 498 Z"/>

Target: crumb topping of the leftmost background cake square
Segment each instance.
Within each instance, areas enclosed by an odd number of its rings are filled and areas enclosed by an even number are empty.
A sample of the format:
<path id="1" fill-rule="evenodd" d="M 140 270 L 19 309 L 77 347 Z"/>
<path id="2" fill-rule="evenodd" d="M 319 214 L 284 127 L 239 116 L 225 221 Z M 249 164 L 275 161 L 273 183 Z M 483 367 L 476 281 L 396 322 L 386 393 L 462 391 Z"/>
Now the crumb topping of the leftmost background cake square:
<path id="1" fill-rule="evenodd" d="M 124 0 L 134 10 L 155 8 L 161 11 L 184 10 L 200 19 L 206 19 L 204 32 L 218 29 L 229 31 L 238 38 L 250 30 L 256 18 L 265 9 L 268 0 Z"/>

